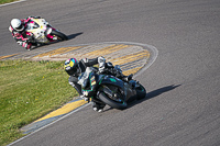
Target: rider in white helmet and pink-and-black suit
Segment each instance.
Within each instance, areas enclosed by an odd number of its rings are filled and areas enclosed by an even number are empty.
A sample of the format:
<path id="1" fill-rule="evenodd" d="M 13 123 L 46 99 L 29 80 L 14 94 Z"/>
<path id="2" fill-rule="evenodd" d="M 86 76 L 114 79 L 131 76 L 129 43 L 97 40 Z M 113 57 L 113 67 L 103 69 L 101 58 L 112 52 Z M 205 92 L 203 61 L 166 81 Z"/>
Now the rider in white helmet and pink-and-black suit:
<path id="1" fill-rule="evenodd" d="M 9 31 L 12 33 L 16 43 L 28 50 L 31 50 L 32 45 L 37 45 L 36 43 L 33 43 L 33 34 L 25 32 L 26 24 L 31 21 L 31 19 L 41 19 L 41 16 L 29 16 L 22 20 L 12 19 L 11 25 L 9 26 Z"/>

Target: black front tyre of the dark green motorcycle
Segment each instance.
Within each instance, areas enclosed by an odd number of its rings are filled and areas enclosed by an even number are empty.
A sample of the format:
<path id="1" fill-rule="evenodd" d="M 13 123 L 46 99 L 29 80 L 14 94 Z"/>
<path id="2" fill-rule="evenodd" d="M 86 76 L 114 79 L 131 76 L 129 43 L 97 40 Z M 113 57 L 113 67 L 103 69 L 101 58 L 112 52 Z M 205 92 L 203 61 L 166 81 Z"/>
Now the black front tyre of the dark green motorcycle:
<path id="1" fill-rule="evenodd" d="M 99 93 L 99 99 L 107 103 L 108 105 L 114 108 L 114 109 L 118 109 L 118 110 L 124 110 L 127 109 L 128 104 L 127 102 L 118 102 L 118 101 L 114 101 L 112 99 L 110 99 L 106 93 L 103 92 L 100 92 Z"/>

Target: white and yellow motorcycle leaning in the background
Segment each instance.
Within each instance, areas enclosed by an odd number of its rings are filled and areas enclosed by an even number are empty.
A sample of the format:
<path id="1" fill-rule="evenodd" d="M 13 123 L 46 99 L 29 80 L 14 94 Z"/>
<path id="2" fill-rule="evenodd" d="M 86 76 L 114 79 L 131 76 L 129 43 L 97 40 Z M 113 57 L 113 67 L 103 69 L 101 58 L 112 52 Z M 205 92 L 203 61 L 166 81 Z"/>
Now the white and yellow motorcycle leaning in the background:
<path id="1" fill-rule="evenodd" d="M 45 19 L 31 19 L 31 21 L 25 26 L 26 33 L 33 34 L 33 40 L 31 43 L 36 44 L 47 44 L 55 41 L 66 41 L 68 37 L 59 32 L 58 30 L 52 27 Z"/>

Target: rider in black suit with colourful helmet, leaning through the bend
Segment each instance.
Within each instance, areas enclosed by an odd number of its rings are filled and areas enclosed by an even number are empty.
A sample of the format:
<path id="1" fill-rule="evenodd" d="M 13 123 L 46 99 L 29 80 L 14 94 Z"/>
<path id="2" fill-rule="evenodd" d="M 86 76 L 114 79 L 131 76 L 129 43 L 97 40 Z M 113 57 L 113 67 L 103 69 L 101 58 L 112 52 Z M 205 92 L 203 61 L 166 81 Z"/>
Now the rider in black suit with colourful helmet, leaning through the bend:
<path id="1" fill-rule="evenodd" d="M 78 83 L 78 77 L 86 71 L 87 67 L 91 67 L 97 64 L 99 64 L 99 74 L 105 74 L 106 70 L 114 68 L 111 63 L 106 63 L 103 57 L 97 57 L 92 59 L 85 58 L 79 61 L 77 61 L 76 58 L 70 58 L 67 59 L 64 65 L 65 71 L 69 75 L 69 85 L 77 90 L 79 97 L 85 101 L 88 101 L 89 99 L 81 92 L 81 86 Z M 116 77 L 121 78 L 124 81 L 129 81 L 132 78 L 133 75 L 124 76 L 119 66 L 116 67 L 117 68 L 113 69 Z M 94 101 L 92 108 L 95 111 L 102 112 L 106 104 L 100 104 Z"/>

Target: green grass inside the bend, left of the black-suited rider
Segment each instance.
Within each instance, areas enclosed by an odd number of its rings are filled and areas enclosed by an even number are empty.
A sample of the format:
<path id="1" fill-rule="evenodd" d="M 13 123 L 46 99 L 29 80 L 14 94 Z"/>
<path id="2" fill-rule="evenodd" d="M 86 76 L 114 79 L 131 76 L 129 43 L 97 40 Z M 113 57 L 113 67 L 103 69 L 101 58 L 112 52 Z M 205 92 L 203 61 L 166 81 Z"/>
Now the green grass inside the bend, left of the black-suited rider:
<path id="1" fill-rule="evenodd" d="M 63 61 L 0 61 L 0 145 L 23 134 L 20 128 L 78 96 L 68 85 Z"/>

